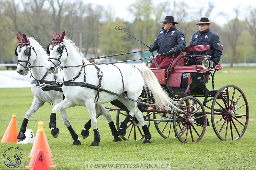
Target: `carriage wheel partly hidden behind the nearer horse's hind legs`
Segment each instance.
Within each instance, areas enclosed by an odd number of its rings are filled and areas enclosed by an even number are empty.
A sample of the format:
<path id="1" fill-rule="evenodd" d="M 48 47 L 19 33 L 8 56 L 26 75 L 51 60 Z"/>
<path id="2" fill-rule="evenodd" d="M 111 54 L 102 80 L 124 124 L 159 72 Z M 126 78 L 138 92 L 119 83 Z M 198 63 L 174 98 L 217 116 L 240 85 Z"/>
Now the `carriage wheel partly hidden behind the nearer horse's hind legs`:
<path id="1" fill-rule="evenodd" d="M 117 118 L 116 118 L 117 130 L 120 129 L 120 124 L 123 122 L 123 120 L 125 120 L 126 117 L 127 117 L 127 114 L 125 114 L 125 111 L 117 111 Z M 150 115 L 144 118 L 150 119 Z M 134 141 L 138 141 L 143 139 L 145 136 L 140 125 L 141 123 L 137 120 L 135 116 L 133 116 L 127 124 L 126 135 L 122 137 L 123 140 L 127 141 L 129 139 L 130 140 L 133 139 Z M 146 125 L 147 125 L 147 128 L 149 128 L 150 122 L 147 121 Z"/>

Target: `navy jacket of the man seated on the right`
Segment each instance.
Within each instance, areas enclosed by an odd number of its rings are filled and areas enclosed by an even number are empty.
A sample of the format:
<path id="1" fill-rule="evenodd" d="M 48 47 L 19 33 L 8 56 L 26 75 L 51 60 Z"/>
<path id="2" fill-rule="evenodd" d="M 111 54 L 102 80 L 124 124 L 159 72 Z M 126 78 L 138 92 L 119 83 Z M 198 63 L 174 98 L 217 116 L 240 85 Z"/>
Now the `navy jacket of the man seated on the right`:
<path id="1" fill-rule="evenodd" d="M 192 45 L 209 45 L 210 50 L 209 51 L 202 51 L 202 55 L 209 54 L 210 56 L 213 56 L 213 62 L 215 65 L 219 63 L 219 60 L 221 59 L 221 42 L 219 41 L 219 36 L 212 32 L 209 28 L 205 31 L 197 31 L 194 32 L 192 35 L 191 42 L 189 46 Z M 200 55 L 201 51 L 190 51 L 186 52 L 185 55 L 192 56 L 193 58 L 196 58 L 196 55 Z"/>

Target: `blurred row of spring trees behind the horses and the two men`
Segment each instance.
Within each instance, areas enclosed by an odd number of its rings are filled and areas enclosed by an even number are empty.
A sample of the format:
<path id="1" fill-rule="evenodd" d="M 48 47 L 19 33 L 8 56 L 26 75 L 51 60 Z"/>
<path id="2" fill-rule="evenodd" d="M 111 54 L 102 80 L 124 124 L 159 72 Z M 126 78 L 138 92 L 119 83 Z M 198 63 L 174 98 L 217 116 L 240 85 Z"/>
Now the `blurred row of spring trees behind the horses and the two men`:
<path id="1" fill-rule="evenodd" d="M 248 7 L 244 20 L 238 19 L 243 12 L 239 8 L 233 9 L 235 18 L 232 19 L 229 14 L 220 12 L 227 18 L 222 21 L 224 25 L 212 22 L 211 12 L 218 11 L 212 2 L 208 2 L 207 7 L 195 8 L 184 1 L 153 4 L 153 0 L 138 0 L 123 10 L 128 10 L 133 19 L 128 22 L 118 17 L 112 6 L 104 8 L 82 0 L 0 0 L 0 63 L 15 56 L 16 33 L 35 37 L 46 48 L 54 31 L 59 35 L 65 30 L 66 36 L 73 39 L 88 58 L 90 54 L 101 56 L 145 50 L 145 45 L 122 30 L 116 30 L 114 25 L 149 46 L 161 30 L 160 21 L 167 15 L 174 16 L 178 22 L 176 27 L 185 34 L 186 45 L 198 30 L 199 19 L 208 17 L 210 29 L 219 35 L 224 46 L 221 63 L 256 62 L 256 8 Z M 130 57 L 119 56 L 117 60 Z"/>

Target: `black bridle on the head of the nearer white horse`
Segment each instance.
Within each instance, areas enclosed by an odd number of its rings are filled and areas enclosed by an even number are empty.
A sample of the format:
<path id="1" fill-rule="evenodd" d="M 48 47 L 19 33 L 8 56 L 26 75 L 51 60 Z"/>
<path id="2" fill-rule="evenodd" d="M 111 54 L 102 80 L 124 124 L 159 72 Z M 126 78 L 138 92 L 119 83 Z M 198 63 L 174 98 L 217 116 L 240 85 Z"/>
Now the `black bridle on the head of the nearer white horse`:
<path id="1" fill-rule="evenodd" d="M 55 39 L 53 39 L 53 41 L 51 41 L 51 43 L 53 43 L 53 45 L 51 46 L 50 49 L 53 50 L 53 47 L 54 47 L 55 45 L 59 44 L 58 52 L 60 53 L 60 55 L 59 55 L 58 58 L 52 58 L 52 57 L 49 57 L 49 58 L 48 58 L 48 61 L 52 62 L 53 65 L 56 66 L 58 69 L 62 66 L 62 63 L 61 63 L 60 59 L 61 59 L 61 56 L 62 56 L 62 54 L 63 54 L 64 48 L 65 48 L 66 53 L 67 53 L 67 47 L 65 46 L 63 40 L 62 40 L 62 41 L 57 41 L 57 39 L 59 38 L 59 36 L 60 36 L 60 35 L 58 35 Z M 47 46 L 47 50 L 46 50 L 47 54 L 50 54 L 50 51 L 49 51 L 49 46 L 50 46 L 50 45 L 51 45 L 51 44 L 49 44 L 49 45 Z M 67 53 L 67 55 L 68 55 L 68 53 Z M 55 64 L 53 61 L 51 61 L 50 59 L 57 60 L 58 65 L 56 65 L 56 64 Z"/>

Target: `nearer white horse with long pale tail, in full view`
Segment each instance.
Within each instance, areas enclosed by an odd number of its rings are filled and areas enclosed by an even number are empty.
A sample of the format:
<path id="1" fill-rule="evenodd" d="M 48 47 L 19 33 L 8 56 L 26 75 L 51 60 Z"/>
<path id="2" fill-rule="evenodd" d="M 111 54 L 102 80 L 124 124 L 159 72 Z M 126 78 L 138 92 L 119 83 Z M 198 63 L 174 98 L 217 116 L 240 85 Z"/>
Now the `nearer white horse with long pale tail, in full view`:
<path id="1" fill-rule="evenodd" d="M 101 71 L 99 71 L 94 65 L 88 65 L 90 62 L 81 58 L 72 41 L 64 37 L 65 31 L 60 36 L 56 36 L 54 32 L 52 44 L 47 48 L 50 56 L 46 69 L 49 73 L 58 73 L 58 66 L 62 63 L 65 76 L 62 90 L 66 98 L 53 107 L 52 113 L 76 105 L 86 106 L 94 129 L 94 141 L 91 146 L 99 146 L 100 135 L 97 128 L 95 102 L 97 101 L 98 104 L 107 103 L 117 97 L 101 91 L 101 88 L 103 88 L 118 94 L 118 100 L 130 111 L 129 116 L 122 122 L 118 134 L 120 136 L 125 135 L 127 122 L 135 115 L 140 121 L 145 134 L 143 143 L 151 143 L 149 141 L 151 135 L 143 119 L 143 114 L 139 111 L 136 103 L 143 87 L 145 91 L 150 92 L 150 96 L 154 97 L 156 107 L 165 110 L 178 109 L 174 106 L 173 100 L 159 85 L 153 72 L 144 65 L 134 67 L 125 63 L 102 65 L 100 66 Z M 87 66 L 80 67 L 79 65 L 82 65 L 82 63 Z M 100 80 L 101 84 L 99 83 Z M 126 100 L 124 92 L 127 97 L 135 101 Z"/>

